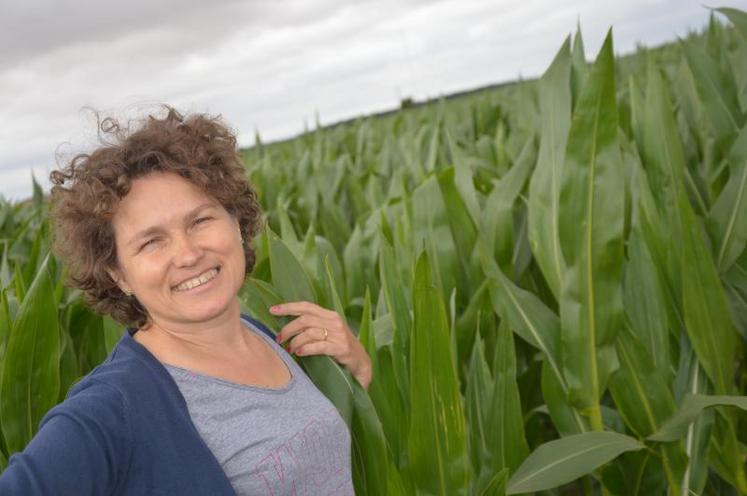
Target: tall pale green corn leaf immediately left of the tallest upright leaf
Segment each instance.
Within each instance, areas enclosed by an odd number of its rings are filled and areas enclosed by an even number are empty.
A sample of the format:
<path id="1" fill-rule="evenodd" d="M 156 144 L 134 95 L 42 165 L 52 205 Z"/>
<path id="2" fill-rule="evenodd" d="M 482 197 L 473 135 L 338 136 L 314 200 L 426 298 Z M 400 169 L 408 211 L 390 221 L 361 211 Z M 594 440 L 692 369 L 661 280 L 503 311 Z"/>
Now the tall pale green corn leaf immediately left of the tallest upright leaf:
<path id="1" fill-rule="evenodd" d="M 571 51 L 566 39 L 539 82 L 542 133 L 537 166 L 529 185 L 529 242 L 555 299 L 565 273 L 558 237 L 558 195 L 571 123 Z"/>

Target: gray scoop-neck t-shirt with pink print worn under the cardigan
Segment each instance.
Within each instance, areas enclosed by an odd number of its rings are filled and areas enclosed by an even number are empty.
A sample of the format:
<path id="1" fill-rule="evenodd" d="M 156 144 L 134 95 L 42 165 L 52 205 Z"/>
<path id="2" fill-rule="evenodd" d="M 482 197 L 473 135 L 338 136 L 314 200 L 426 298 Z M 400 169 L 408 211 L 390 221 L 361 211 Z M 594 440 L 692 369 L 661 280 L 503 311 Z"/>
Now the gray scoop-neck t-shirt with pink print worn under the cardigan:
<path id="1" fill-rule="evenodd" d="M 354 494 L 345 421 L 285 350 L 244 324 L 288 366 L 285 387 L 246 386 L 164 364 L 236 494 Z"/>

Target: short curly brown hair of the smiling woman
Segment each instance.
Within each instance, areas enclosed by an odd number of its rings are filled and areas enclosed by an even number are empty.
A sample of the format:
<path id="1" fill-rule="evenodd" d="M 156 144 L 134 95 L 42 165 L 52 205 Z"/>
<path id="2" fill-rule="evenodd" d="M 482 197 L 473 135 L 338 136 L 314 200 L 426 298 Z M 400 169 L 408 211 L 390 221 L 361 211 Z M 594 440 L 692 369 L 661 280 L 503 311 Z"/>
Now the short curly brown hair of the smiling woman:
<path id="1" fill-rule="evenodd" d="M 68 283 L 84 292 L 95 311 L 137 327 L 148 322 L 146 310 L 110 276 L 118 267 L 112 217 L 135 179 L 156 171 L 178 174 L 217 200 L 247 240 L 247 274 L 255 261 L 248 240 L 261 227 L 236 137 L 221 118 L 165 110 L 165 117 L 149 115 L 134 130 L 113 118 L 99 120 L 102 146 L 50 174 L 53 251 L 68 266 Z"/>

